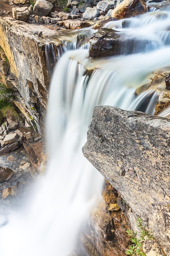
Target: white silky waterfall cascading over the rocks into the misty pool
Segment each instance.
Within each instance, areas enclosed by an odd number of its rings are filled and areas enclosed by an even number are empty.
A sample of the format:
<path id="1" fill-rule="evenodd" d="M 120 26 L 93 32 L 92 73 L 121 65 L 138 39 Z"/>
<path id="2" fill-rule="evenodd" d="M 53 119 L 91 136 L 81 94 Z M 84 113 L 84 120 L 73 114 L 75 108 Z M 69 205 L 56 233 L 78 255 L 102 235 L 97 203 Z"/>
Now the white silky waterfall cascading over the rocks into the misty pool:
<path id="1" fill-rule="evenodd" d="M 48 171 L 27 206 L 0 228 L 1 256 L 67 256 L 77 247 L 83 221 L 103 184 L 81 150 L 93 108 L 103 104 L 154 114 L 160 93 L 148 90 L 136 96 L 135 87 L 147 82 L 155 70 L 170 66 L 170 47 L 164 39 L 170 14 L 164 10 L 166 18 L 160 20 L 161 13 L 127 19 L 124 28 L 121 21 L 106 25 L 129 36 L 141 33 L 151 41 L 148 48 L 142 46 L 142 53 L 139 44 L 136 54 L 91 59 L 87 49 L 75 49 L 58 60 L 47 117 Z"/>

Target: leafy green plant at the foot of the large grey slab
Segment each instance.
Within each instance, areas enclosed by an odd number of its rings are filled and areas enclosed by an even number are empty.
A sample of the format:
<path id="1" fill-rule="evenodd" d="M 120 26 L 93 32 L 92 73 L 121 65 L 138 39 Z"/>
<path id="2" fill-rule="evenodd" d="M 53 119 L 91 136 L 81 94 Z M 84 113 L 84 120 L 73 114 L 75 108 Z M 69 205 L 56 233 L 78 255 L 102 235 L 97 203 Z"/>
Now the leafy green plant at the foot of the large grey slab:
<path id="1" fill-rule="evenodd" d="M 143 220 L 141 218 L 137 218 L 137 226 L 140 228 L 139 236 L 137 236 L 137 232 L 134 233 L 132 230 L 126 231 L 128 233 L 128 236 L 130 236 L 130 241 L 132 242 L 131 245 L 129 245 L 129 249 L 126 251 L 127 255 L 131 256 L 146 256 L 146 254 L 143 252 L 143 243 L 144 240 L 149 239 L 152 240 L 152 232 L 151 234 L 146 231 L 146 226 L 142 226 Z"/>

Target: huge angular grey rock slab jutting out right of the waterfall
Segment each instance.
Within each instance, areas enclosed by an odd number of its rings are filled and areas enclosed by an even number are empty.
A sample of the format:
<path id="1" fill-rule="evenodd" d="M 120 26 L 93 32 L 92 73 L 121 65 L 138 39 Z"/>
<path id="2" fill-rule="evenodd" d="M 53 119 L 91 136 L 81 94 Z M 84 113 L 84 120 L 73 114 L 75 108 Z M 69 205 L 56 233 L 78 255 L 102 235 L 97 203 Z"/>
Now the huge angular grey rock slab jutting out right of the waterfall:
<path id="1" fill-rule="evenodd" d="M 170 120 L 110 106 L 94 108 L 84 156 L 170 252 Z"/>

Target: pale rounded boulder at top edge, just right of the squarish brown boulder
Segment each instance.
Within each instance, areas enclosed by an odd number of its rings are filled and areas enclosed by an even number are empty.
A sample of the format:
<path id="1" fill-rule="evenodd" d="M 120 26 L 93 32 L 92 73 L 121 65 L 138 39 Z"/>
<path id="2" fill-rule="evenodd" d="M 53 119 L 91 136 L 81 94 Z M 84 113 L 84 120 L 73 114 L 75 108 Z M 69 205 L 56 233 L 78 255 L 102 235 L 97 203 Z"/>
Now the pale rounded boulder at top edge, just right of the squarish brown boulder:
<path id="1" fill-rule="evenodd" d="M 51 9 L 53 8 L 53 4 L 46 0 L 37 0 L 34 4 L 33 11 L 38 16 L 47 16 Z"/>

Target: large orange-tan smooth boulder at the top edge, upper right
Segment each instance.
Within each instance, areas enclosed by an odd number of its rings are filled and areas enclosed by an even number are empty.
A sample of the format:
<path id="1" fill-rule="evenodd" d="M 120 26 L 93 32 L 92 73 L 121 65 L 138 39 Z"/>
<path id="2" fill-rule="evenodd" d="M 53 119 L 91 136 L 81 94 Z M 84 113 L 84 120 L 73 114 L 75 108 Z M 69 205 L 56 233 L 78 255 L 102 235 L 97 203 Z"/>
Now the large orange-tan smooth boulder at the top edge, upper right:
<path id="1" fill-rule="evenodd" d="M 124 0 L 112 11 L 112 18 L 129 18 L 146 13 L 148 8 L 145 0 Z"/>

